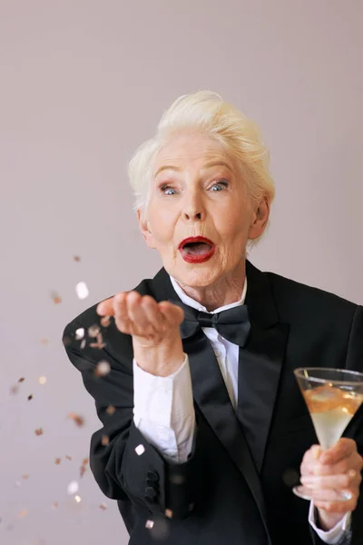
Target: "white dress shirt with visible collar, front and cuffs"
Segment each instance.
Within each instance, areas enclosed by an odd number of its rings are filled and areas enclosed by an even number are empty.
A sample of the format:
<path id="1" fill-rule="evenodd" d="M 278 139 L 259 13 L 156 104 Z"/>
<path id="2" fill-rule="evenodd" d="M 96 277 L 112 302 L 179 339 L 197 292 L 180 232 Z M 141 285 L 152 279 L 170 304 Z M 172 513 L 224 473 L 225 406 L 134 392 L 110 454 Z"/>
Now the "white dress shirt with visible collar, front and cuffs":
<path id="1" fill-rule="evenodd" d="M 194 309 L 208 312 L 207 309 L 189 297 L 171 277 L 172 287 L 182 302 Z M 225 305 L 215 312 L 225 311 L 243 304 L 246 298 L 247 280 L 240 301 Z M 226 341 L 217 330 L 203 327 L 202 331 L 211 342 L 212 349 L 221 368 L 221 375 L 236 409 L 238 400 L 239 350 L 237 344 Z M 178 371 L 167 377 L 154 376 L 144 372 L 133 361 L 133 420 L 142 435 L 162 456 L 171 462 L 187 461 L 191 453 L 195 429 L 195 413 L 191 388 L 191 372 L 187 354 Z M 291 492 L 292 493 L 292 492 Z M 309 523 L 319 538 L 329 545 L 337 544 L 345 530 L 348 530 L 350 516 L 347 514 L 329 531 L 319 530 L 315 523 L 314 506 L 310 503 Z"/>

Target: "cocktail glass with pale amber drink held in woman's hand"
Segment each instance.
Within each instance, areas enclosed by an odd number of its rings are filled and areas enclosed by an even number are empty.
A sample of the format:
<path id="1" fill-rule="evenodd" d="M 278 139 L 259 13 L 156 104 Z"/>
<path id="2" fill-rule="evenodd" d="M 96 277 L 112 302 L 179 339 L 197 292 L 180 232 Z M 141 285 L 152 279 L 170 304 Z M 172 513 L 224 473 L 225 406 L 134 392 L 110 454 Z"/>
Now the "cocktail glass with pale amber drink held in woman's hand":
<path id="1" fill-rule="evenodd" d="M 363 373 L 345 369 L 305 367 L 294 371 L 299 389 L 323 451 L 332 447 L 342 436 L 363 402 Z M 310 500 L 311 490 L 295 486 L 294 493 Z M 339 500 L 348 500 L 344 493 Z"/>

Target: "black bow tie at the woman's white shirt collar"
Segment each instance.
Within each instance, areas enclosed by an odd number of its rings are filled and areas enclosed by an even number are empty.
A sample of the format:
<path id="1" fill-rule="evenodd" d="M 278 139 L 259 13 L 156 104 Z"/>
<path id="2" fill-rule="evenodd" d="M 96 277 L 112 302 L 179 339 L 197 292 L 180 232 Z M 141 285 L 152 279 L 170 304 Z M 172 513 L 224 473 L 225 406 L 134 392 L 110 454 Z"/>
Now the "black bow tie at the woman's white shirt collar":
<path id="1" fill-rule="evenodd" d="M 184 311 L 184 321 L 181 325 L 182 339 L 191 337 L 202 327 L 214 327 L 227 341 L 239 346 L 245 345 L 250 332 L 249 312 L 246 305 L 210 314 L 197 311 L 181 301 L 169 301 L 180 306 Z"/>

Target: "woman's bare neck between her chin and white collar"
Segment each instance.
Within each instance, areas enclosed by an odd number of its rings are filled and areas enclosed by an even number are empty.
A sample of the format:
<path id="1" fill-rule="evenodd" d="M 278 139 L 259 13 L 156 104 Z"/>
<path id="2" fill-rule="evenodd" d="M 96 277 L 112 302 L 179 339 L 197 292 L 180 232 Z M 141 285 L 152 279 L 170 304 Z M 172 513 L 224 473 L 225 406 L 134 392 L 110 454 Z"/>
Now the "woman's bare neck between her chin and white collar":
<path id="1" fill-rule="evenodd" d="M 179 284 L 194 301 L 200 302 L 207 311 L 215 311 L 221 306 L 240 301 L 246 279 L 245 264 L 238 267 L 238 270 L 223 276 L 209 286 L 193 287 Z"/>

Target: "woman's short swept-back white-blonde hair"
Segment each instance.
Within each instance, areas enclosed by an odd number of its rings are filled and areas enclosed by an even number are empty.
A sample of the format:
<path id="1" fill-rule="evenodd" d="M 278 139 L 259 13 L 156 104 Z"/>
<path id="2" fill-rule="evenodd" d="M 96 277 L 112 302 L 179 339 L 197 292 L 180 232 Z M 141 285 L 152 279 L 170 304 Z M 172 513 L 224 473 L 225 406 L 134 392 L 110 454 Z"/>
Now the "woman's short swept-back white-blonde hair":
<path id="1" fill-rule="evenodd" d="M 219 94 L 199 91 L 183 94 L 166 112 L 156 134 L 132 155 L 129 181 L 135 196 L 135 209 L 145 213 L 156 155 L 172 136 L 185 132 L 201 133 L 223 144 L 236 161 L 252 203 L 275 196 L 270 176 L 270 153 L 262 143 L 260 128 Z"/>

